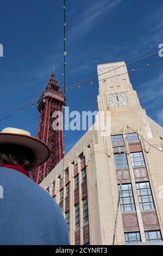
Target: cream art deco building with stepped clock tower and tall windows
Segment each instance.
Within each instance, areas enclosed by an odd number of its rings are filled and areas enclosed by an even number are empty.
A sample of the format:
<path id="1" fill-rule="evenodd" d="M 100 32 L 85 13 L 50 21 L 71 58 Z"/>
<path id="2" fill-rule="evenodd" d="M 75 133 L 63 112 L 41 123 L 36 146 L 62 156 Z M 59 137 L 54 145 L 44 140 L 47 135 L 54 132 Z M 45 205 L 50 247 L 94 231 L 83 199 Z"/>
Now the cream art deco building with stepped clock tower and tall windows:
<path id="1" fill-rule="evenodd" d="M 72 245 L 111 245 L 122 178 L 115 245 L 161 241 L 163 129 L 140 106 L 124 62 L 97 70 L 98 117 L 110 132 L 87 131 L 65 155 L 64 173 L 61 160 L 40 186 L 64 212 Z"/>

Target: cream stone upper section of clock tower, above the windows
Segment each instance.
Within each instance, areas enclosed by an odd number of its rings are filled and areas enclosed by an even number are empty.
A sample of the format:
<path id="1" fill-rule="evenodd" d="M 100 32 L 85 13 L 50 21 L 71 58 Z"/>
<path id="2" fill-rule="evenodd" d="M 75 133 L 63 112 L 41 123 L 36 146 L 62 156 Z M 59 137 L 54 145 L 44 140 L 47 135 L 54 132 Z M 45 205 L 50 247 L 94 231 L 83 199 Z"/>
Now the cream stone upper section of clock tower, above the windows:
<path id="1" fill-rule="evenodd" d="M 126 129 L 127 122 L 129 124 L 129 120 L 134 118 L 136 124 L 145 123 L 147 130 L 145 136 L 148 134 L 152 137 L 146 111 L 140 106 L 137 93 L 133 90 L 125 62 L 101 64 L 97 66 L 97 71 L 99 76 L 98 111 L 110 115 L 110 132 L 120 131 L 122 127 Z"/>

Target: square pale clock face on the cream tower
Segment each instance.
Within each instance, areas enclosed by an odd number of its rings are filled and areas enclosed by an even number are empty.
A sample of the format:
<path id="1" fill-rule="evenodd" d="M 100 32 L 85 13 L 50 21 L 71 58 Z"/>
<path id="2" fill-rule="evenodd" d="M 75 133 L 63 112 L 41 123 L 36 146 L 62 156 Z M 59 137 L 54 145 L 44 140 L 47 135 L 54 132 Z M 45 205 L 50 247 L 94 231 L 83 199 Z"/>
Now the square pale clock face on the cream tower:
<path id="1" fill-rule="evenodd" d="M 110 107 L 127 105 L 126 93 L 111 94 L 109 97 Z"/>

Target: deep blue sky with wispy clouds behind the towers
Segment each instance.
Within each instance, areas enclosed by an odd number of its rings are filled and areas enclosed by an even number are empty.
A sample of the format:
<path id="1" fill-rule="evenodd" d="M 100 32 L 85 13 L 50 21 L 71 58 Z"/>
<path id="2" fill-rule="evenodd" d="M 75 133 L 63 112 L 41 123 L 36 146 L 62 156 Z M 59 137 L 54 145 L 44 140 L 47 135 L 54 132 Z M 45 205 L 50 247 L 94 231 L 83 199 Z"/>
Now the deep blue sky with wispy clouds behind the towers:
<path id="1" fill-rule="evenodd" d="M 97 74 L 97 64 L 131 60 L 158 50 L 163 43 L 161 0 L 68 0 L 66 9 L 66 84 Z M 0 58 L 1 110 L 5 111 L 41 95 L 53 65 L 60 81 L 63 62 L 63 1 L 1 0 Z M 139 68 L 163 61 L 155 55 L 128 66 Z M 163 125 L 163 65 L 130 74 L 130 80 L 147 114 Z M 66 92 L 70 110 L 95 111 L 98 84 Z M 12 112 L 11 112 L 12 113 Z M 0 118 L 7 114 L 1 114 Z M 27 109 L 0 122 L 36 135 L 39 113 Z M 66 132 L 66 151 L 84 131 Z"/>

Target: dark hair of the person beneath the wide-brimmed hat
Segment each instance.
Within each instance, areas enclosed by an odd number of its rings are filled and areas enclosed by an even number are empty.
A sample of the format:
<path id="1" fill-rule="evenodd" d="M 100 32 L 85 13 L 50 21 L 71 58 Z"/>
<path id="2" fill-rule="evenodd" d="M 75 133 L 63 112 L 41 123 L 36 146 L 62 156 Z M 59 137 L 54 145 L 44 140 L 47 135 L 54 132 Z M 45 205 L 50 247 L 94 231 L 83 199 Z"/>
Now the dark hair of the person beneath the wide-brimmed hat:
<path id="1" fill-rule="evenodd" d="M 0 159 L 5 164 L 21 164 L 24 169 L 30 170 L 35 159 L 34 153 L 31 149 L 22 145 L 16 144 L 1 144 L 0 145 Z"/>

